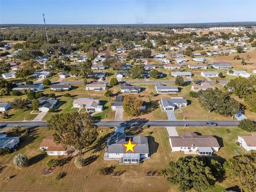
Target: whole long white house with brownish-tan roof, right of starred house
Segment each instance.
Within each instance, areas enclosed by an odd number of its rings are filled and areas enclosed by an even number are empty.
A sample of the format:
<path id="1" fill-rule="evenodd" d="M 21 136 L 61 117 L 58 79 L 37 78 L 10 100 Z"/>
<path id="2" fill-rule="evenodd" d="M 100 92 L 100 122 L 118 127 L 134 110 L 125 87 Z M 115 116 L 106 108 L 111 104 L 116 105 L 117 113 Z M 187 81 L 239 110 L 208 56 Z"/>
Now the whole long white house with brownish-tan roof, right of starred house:
<path id="1" fill-rule="evenodd" d="M 184 133 L 181 136 L 171 136 L 169 142 L 172 151 L 193 151 L 198 155 L 212 155 L 214 151 L 220 149 L 218 140 L 212 135 Z"/>

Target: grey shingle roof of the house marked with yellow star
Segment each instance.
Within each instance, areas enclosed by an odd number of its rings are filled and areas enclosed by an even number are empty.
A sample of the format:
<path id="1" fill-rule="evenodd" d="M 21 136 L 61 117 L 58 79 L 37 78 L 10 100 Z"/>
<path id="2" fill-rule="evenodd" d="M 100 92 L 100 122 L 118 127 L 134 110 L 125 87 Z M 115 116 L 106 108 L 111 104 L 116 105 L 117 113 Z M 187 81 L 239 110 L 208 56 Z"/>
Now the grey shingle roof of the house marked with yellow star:
<path id="1" fill-rule="evenodd" d="M 124 133 L 115 132 L 110 135 L 108 141 L 109 141 L 108 153 L 124 153 L 125 152 L 126 148 L 122 145 L 122 143 L 128 143 L 128 141 L 125 141 Z M 139 153 L 139 154 L 149 153 L 148 138 L 135 136 L 135 137 L 132 137 L 132 143 L 137 144 L 137 146 L 134 147 L 135 153 Z M 127 151 L 127 153 L 132 153 L 132 151 Z"/>

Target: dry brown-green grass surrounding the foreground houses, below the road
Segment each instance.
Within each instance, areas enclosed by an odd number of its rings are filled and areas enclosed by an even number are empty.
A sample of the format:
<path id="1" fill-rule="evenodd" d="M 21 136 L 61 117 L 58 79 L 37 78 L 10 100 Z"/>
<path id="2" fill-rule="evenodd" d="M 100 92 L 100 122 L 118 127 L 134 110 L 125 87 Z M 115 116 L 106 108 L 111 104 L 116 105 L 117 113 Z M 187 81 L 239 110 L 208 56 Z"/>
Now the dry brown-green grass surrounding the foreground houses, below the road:
<path id="1" fill-rule="evenodd" d="M 207 130 L 206 130 L 207 129 Z M 213 134 L 223 137 L 224 147 L 217 153 L 221 157 L 231 157 L 233 150 L 239 147 L 235 145 L 236 134 L 244 134 L 238 128 L 229 127 L 231 133 L 227 134 L 227 129 L 223 127 L 179 127 L 178 133 L 186 131 L 197 131 L 202 134 Z M 116 161 L 103 161 L 103 148 L 109 134 L 114 131 L 107 127 L 100 127 L 98 140 L 93 146 L 83 154 L 87 159 L 87 165 L 78 169 L 74 165 L 74 158 L 66 159 L 66 163 L 57 167 L 48 176 L 43 176 L 42 171 L 46 162 L 50 158 L 42 157 L 39 144 L 47 135 L 51 135 L 50 130 L 40 128 L 34 129 L 31 133 L 22 137 L 20 147 L 17 152 L 1 157 L 3 169 L 1 178 L 11 176 L 11 179 L 1 181 L 1 191 L 178 191 L 177 186 L 171 185 L 165 178 L 145 178 L 144 173 L 151 170 L 164 169 L 170 161 L 177 161 L 179 157 L 185 156 L 183 153 L 171 153 L 167 131 L 164 127 L 150 127 L 148 129 L 129 129 L 127 132 L 148 137 L 151 158 L 145 160 L 140 165 L 117 165 Z M 152 132 L 151 135 L 149 133 Z M 97 150 L 101 147 L 102 150 Z M 240 150 L 239 150 L 240 152 Z M 29 166 L 23 169 L 15 169 L 12 158 L 16 154 L 24 154 L 29 158 Z M 112 178 L 99 174 L 103 166 L 116 165 L 116 170 L 125 170 L 120 178 Z M 67 175 L 63 179 L 56 181 L 55 175 L 65 172 Z M 100 181 L 100 182 L 99 182 Z M 118 183 L 118 185 L 116 185 Z M 222 191 L 227 187 L 234 186 L 235 183 L 224 181 L 217 183 L 210 191 Z"/>

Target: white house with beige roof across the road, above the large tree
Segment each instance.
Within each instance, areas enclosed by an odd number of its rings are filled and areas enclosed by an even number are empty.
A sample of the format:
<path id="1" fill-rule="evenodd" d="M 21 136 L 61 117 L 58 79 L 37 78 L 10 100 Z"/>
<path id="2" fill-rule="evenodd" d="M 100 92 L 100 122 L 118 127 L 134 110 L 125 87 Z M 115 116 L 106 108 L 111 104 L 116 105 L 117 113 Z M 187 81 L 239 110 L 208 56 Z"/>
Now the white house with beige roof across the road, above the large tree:
<path id="1" fill-rule="evenodd" d="M 93 98 L 78 98 L 73 101 L 73 107 L 82 108 L 84 107 L 87 112 L 98 112 L 102 111 L 103 106 L 100 105 L 99 99 Z"/>

